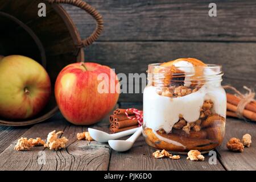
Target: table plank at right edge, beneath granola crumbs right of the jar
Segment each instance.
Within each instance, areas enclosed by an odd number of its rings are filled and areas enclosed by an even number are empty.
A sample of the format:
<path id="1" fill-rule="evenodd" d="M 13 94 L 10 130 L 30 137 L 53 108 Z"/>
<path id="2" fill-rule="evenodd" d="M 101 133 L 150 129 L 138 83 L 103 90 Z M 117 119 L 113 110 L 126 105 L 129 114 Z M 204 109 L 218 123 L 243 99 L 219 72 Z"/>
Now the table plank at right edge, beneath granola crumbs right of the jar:
<path id="1" fill-rule="evenodd" d="M 251 135 L 251 147 L 243 150 L 242 153 L 230 152 L 226 143 L 232 137 L 242 138 L 246 133 Z M 245 122 L 241 119 L 227 118 L 226 133 L 224 142 L 217 147 L 217 152 L 222 165 L 228 170 L 256 170 L 256 123 Z"/>

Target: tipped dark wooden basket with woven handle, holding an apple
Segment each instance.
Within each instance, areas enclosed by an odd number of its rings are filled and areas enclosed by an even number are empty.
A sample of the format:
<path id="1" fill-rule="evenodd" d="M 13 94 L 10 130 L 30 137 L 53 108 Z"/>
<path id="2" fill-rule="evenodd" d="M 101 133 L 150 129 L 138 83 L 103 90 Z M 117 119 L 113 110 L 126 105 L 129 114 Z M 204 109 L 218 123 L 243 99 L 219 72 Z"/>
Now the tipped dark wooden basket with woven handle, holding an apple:
<path id="1" fill-rule="evenodd" d="M 38 5 L 42 2 L 46 4 L 46 17 L 38 16 Z M 75 24 L 59 3 L 80 7 L 96 19 L 97 27 L 89 38 L 80 38 Z M 51 100 L 36 117 L 26 121 L 0 119 L 0 125 L 26 126 L 52 117 L 58 110 L 54 97 L 58 73 L 68 64 L 84 61 L 83 48 L 92 44 L 102 29 L 102 16 L 81 0 L 0 1 L 0 55 L 31 57 L 46 68 L 52 84 Z"/>

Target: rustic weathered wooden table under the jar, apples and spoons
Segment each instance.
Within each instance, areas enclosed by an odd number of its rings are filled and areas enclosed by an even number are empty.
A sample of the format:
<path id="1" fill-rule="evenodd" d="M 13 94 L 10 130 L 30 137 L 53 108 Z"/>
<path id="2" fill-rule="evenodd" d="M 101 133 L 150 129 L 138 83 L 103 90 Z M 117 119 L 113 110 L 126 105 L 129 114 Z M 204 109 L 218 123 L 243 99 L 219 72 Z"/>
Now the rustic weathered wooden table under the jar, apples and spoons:
<path id="1" fill-rule="evenodd" d="M 131 104 L 134 106 L 134 104 Z M 131 105 L 121 105 L 129 107 Z M 135 105 L 141 108 L 141 105 Z M 108 131 L 108 118 L 90 126 Z M 192 162 L 181 155 L 180 160 L 154 159 L 154 148 L 147 146 L 140 137 L 134 147 L 127 152 L 111 150 L 108 144 L 95 141 L 77 140 L 76 134 L 88 127 L 75 126 L 67 122 L 60 113 L 46 122 L 31 127 L 0 126 L 0 169 L 1 170 L 255 170 L 256 169 L 256 123 L 228 118 L 223 144 L 217 147 L 217 164 L 210 164 L 208 154 L 204 162 Z M 47 138 L 52 130 L 64 131 L 69 142 L 61 151 L 49 151 L 42 146 L 31 151 L 15 151 L 16 140 L 20 137 Z M 252 135 L 253 143 L 242 153 L 230 152 L 225 144 L 231 137 L 241 138 L 243 134 Z M 43 151 L 43 153 L 42 153 Z M 44 153 L 45 152 L 45 153 Z M 46 157 L 42 164 L 42 156 Z"/>

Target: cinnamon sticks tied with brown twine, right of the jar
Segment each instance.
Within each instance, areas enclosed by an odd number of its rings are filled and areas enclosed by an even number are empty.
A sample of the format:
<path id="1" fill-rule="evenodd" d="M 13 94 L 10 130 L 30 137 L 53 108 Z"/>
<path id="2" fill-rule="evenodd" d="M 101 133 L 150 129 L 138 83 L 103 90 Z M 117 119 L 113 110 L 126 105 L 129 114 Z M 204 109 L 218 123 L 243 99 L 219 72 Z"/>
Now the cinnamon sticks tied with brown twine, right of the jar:
<path id="1" fill-rule="evenodd" d="M 230 93 L 226 94 L 226 98 L 227 98 L 226 115 L 230 117 L 238 118 L 236 111 L 237 111 L 237 106 L 241 101 L 241 98 Z M 256 101 L 251 101 L 249 104 L 247 104 L 241 114 L 243 115 L 243 117 L 250 119 L 251 121 L 256 121 Z"/>

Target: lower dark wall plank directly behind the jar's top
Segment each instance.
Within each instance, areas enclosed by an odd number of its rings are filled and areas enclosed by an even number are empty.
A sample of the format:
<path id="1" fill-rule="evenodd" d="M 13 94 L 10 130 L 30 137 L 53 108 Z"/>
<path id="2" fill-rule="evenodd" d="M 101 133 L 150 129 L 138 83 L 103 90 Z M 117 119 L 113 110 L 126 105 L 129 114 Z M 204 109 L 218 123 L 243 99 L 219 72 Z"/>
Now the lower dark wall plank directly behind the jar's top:
<path id="1" fill-rule="evenodd" d="M 146 73 L 147 65 L 179 57 L 221 64 L 224 84 L 256 89 L 256 43 L 100 42 L 85 49 L 86 61 L 109 65 L 117 73 Z M 140 86 L 141 84 L 137 85 Z M 142 94 L 121 94 L 119 101 L 142 101 Z"/>

